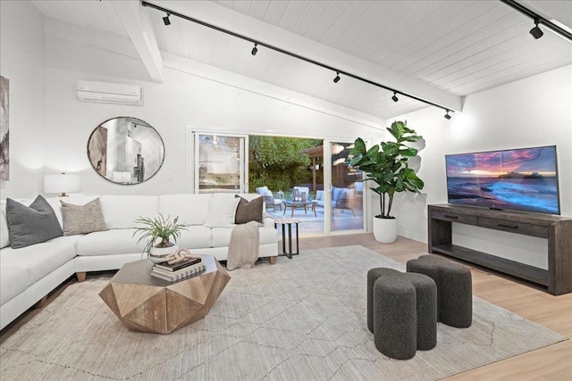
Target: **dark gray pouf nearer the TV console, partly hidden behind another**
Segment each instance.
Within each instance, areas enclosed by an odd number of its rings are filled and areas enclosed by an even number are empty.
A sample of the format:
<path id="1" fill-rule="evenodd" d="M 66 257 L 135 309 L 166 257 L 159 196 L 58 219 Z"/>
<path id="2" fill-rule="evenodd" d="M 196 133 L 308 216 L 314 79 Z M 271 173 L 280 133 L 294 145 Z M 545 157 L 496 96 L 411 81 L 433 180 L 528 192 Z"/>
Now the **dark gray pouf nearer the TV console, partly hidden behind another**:
<path id="1" fill-rule="evenodd" d="M 467 328 L 473 322 L 473 282 L 467 266 L 436 255 L 408 261 L 408 272 L 425 274 L 437 284 L 439 321 L 450 327 Z"/>

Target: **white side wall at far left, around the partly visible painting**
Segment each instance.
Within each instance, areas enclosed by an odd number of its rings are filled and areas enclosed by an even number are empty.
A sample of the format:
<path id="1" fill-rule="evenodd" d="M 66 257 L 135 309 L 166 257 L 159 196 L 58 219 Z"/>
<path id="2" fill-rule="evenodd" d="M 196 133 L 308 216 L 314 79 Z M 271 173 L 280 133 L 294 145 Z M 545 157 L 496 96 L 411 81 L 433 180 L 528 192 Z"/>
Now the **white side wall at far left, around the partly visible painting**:
<path id="1" fill-rule="evenodd" d="M 44 18 L 29 2 L 0 2 L 0 74 L 10 80 L 10 180 L 2 198 L 38 195 L 44 174 Z"/>

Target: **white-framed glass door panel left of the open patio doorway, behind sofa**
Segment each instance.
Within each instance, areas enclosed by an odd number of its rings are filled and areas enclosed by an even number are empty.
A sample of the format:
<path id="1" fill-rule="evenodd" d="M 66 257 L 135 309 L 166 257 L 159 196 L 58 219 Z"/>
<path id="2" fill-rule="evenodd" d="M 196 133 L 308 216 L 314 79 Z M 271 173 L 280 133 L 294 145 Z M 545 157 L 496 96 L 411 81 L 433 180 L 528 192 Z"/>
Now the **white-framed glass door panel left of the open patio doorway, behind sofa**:
<path id="1" fill-rule="evenodd" d="M 248 136 L 194 134 L 195 193 L 246 193 Z"/>

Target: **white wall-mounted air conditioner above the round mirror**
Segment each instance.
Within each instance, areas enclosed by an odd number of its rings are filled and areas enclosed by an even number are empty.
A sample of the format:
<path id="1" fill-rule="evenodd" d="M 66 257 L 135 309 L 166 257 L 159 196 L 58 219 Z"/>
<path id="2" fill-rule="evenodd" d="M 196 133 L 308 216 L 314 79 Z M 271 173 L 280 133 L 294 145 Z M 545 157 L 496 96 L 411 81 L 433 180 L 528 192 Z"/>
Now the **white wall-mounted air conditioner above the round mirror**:
<path id="1" fill-rule="evenodd" d="M 143 105 L 141 87 L 109 82 L 78 81 L 78 97 L 84 102 Z"/>

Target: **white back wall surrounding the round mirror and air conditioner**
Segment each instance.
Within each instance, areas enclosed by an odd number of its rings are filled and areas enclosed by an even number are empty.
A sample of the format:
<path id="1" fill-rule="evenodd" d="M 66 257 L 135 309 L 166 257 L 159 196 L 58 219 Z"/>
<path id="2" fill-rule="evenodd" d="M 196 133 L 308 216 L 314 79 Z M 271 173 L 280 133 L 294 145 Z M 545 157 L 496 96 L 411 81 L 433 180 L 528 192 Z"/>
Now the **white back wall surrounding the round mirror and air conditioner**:
<path id="1" fill-rule="evenodd" d="M 121 66 L 120 78 L 110 77 L 109 62 Z M 278 87 L 253 91 L 257 84 L 252 79 L 197 62 L 185 63 L 184 70 L 165 67 L 164 83 L 153 84 L 141 80 L 144 76 L 137 60 L 46 36 L 46 172 L 80 172 L 82 193 L 86 194 L 184 193 L 189 191 L 192 170 L 187 163 L 189 127 L 294 137 L 355 138 L 374 133 L 374 128 L 352 121 L 353 115 L 341 114 L 341 107 L 335 104 L 318 100 L 308 103 L 307 96 L 292 95 Z M 180 67 L 181 62 L 172 66 Z M 126 72 L 130 80 L 121 78 Z M 144 105 L 81 102 L 75 94 L 80 79 L 137 84 L 143 87 Z M 145 120 L 164 140 L 163 167 L 143 184 L 115 185 L 100 178 L 88 162 L 89 135 L 102 121 L 115 116 Z M 355 116 L 355 120 L 363 119 L 363 114 Z M 379 126 L 374 117 L 366 122 Z"/>

